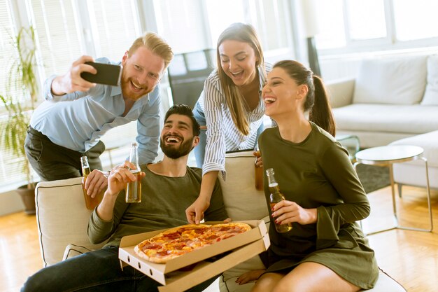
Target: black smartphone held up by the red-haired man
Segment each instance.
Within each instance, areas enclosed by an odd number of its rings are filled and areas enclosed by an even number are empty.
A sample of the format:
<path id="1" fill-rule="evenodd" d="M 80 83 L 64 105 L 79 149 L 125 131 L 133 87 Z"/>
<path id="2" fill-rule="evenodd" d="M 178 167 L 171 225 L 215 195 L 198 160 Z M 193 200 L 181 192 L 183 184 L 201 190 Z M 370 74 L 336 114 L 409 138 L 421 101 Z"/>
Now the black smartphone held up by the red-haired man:
<path id="1" fill-rule="evenodd" d="M 122 67 L 120 65 L 104 64 L 96 62 L 85 62 L 97 70 L 97 74 L 90 72 L 80 73 L 80 77 L 92 83 L 106 84 L 112 86 L 120 85 L 120 76 L 122 75 Z"/>

